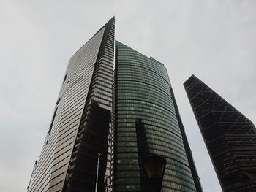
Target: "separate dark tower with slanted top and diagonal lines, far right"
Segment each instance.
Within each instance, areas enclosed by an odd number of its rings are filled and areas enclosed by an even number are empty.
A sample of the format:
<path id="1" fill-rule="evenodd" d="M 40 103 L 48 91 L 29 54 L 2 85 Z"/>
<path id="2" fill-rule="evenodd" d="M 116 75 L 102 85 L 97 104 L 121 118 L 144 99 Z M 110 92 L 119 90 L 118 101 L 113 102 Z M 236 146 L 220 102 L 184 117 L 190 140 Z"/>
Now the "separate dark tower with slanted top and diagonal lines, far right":
<path id="1" fill-rule="evenodd" d="M 200 81 L 184 82 L 223 191 L 256 191 L 256 132 L 252 121 Z"/>

